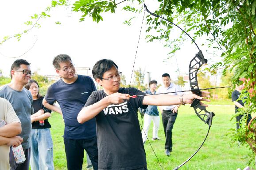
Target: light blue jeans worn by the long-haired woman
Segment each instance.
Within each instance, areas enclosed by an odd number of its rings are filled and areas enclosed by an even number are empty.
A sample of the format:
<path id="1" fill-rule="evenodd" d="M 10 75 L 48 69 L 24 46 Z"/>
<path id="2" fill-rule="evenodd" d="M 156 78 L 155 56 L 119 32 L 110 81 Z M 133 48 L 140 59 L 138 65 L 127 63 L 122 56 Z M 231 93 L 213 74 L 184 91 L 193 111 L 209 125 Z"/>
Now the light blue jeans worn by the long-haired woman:
<path id="1" fill-rule="evenodd" d="M 31 170 L 54 170 L 50 128 L 31 130 Z"/>

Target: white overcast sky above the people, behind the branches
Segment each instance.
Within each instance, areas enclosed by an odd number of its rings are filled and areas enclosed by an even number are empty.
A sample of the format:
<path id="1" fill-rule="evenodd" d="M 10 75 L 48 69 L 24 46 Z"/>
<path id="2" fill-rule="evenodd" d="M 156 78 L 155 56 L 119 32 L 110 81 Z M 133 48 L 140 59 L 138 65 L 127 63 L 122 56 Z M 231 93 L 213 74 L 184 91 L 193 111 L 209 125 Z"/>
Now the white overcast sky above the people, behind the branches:
<path id="1" fill-rule="evenodd" d="M 2 0 L 0 40 L 4 36 L 14 35 L 30 28 L 31 26 L 26 26 L 23 23 L 31 20 L 31 15 L 44 11 L 50 2 L 50 0 Z M 155 3 L 157 2 L 146 0 L 147 7 L 151 11 L 157 7 Z M 89 17 L 80 23 L 81 14 L 70 13 L 68 7 L 52 9 L 50 18 L 39 20 L 41 28 L 33 28 L 28 34 L 23 34 L 19 42 L 16 38 L 12 38 L 0 45 L 0 69 L 4 76 L 8 76 L 14 60 L 26 59 L 31 63 L 32 70 L 39 70 L 42 75 L 57 75 L 51 62 L 58 54 L 70 55 L 76 67 L 93 68 L 98 60 L 106 58 L 114 60 L 129 83 L 143 13 L 137 15 L 131 26 L 127 26 L 123 22 L 133 15 L 121 10 L 123 5 L 125 4 L 122 3 L 118 6 L 115 14 L 110 12 L 102 14 L 104 21 L 100 23 L 93 22 Z M 57 21 L 61 25 L 55 24 Z M 167 60 L 170 49 L 164 48 L 162 42 L 146 42 L 146 28 L 144 20 L 135 69 L 140 67 L 145 72 L 151 72 L 151 79 L 156 79 L 159 83 L 162 83 L 161 75 L 165 72 L 169 73 L 172 79 L 177 79 L 178 73 L 175 71 L 178 67 L 182 74 L 188 73 L 189 62 L 195 53 L 198 53 L 195 45 L 190 41 L 184 42 L 181 50 L 175 53 L 177 67 L 175 58 Z M 178 28 L 174 28 L 172 31 L 173 35 L 179 33 Z M 211 49 L 206 52 L 206 45 L 201 46 L 205 39 L 198 39 L 196 42 L 204 56 L 210 59 L 209 64 L 220 60 L 220 57 L 216 58 L 217 55 L 212 54 Z M 23 53 L 26 54 L 19 57 Z"/>

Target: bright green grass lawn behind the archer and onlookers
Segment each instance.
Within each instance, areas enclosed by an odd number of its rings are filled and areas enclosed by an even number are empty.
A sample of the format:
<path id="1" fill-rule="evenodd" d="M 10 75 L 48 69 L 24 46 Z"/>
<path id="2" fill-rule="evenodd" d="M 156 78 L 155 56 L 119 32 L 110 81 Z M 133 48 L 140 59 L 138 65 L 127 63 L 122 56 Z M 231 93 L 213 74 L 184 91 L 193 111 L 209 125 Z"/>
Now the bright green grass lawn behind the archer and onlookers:
<path id="1" fill-rule="evenodd" d="M 247 161 L 241 158 L 250 152 L 248 147 L 237 145 L 230 147 L 231 140 L 225 137 L 230 128 L 235 128 L 234 121 L 230 121 L 234 113 L 234 106 L 211 105 L 207 110 L 215 113 L 209 136 L 201 150 L 179 170 L 237 170 L 238 167 L 244 169 Z M 52 113 L 50 124 L 52 125 L 51 134 L 54 143 L 55 170 L 66 170 L 66 155 L 62 138 L 64 122 L 60 115 Z M 193 108 L 182 106 L 178 110 L 178 117 L 173 129 L 173 151 L 171 156 L 167 157 L 164 153 L 165 137 L 162 122 L 159 128 L 159 138 L 161 140 L 151 140 L 152 125 L 149 129 L 148 138 L 163 166 L 163 170 L 172 170 L 198 149 L 206 136 L 207 130 L 208 125 L 196 116 Z M 147 154 L 148 170 L 161 170 L 148 141 L 144 147 Z M 84 158 L 83 170 L 86 169 L 85 167 L 86 158 Z"/>

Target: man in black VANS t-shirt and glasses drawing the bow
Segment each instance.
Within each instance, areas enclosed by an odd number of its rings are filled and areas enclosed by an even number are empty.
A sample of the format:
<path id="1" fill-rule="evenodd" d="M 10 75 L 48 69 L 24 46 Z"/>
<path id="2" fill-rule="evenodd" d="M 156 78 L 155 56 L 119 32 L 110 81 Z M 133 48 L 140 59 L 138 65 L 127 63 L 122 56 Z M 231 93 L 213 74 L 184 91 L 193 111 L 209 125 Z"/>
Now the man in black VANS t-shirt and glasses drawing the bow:
<path id="1" fill-rule="evenodd" d="M 139 107 L 146 109 L 147 105 L 192 103 L 194 98 L 209 102 L 209 99 L 195 94 L 145 95 L 136 88 L 120 87 L 121 72 L 118 72 L 112 60 L 97 61 L 92 72 L 93 78 L 103 90 L 93 91 L 78 114 L 78 122 L 84 123 L 96 118 L 99 170 L 147 170 L 137 115 Z M 203 97 L 209 97 L 208 94 L 202 91 Z"/>

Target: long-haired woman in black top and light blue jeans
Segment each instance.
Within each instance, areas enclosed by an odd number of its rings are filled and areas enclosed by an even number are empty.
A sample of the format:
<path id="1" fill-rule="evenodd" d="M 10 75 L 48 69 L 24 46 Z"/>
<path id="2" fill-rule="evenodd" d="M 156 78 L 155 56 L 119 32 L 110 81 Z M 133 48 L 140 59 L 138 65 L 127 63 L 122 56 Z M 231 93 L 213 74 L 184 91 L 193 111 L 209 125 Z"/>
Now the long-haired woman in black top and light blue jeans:
<path id="1" fill-rule="evenodd" d="M 51 110 L 43 106 L 43 96 L 39 94 L 39 85 L 35 80 L 29 80 L 25 88 L 31 92 L 34 105 L 34 114 L 31 115 L 31 170 L 54 170 L 51 126 L 47 119 Z"/>

